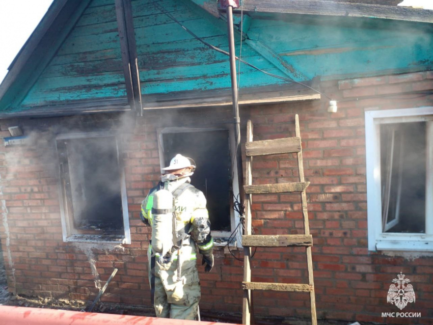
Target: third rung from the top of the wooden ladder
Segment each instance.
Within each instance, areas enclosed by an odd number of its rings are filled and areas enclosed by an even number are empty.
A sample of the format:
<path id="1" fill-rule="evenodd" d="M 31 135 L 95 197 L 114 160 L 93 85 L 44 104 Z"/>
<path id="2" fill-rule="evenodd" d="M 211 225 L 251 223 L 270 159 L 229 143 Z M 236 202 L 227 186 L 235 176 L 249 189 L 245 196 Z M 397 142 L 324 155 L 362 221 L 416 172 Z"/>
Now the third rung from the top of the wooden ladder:
<path id="1" fill-rule="evenodd" d="M 243 235 L 242 246 L 246 246 L 246 247 L 313 246 L 313 237 L 311 235 Z"/>

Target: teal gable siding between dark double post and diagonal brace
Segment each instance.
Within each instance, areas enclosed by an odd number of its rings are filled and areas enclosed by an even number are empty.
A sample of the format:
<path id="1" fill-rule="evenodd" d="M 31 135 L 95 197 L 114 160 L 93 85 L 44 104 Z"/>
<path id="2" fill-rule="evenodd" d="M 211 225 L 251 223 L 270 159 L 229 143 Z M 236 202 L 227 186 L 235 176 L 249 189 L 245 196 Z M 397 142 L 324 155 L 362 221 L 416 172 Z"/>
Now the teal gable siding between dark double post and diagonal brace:
<path id="1" fill-rule="evenodd" d="M 226 55 L 195 39 L 158 7 L 143 3 L 133 2 L 143 94 L 230 88 L 230 66 Z M 164 0 L 158 4 L 197 36 L 228 51 L 224 22 L 189 1 Z M 238 53 L 239 45 L 240 38 L 237 36 Z M 280 74 L 274 65 L 245 43 L 242 45 L 242 58 L 264 70 Z M 278 79 L 241 66 L 241 87 L 279 83 Z"/>

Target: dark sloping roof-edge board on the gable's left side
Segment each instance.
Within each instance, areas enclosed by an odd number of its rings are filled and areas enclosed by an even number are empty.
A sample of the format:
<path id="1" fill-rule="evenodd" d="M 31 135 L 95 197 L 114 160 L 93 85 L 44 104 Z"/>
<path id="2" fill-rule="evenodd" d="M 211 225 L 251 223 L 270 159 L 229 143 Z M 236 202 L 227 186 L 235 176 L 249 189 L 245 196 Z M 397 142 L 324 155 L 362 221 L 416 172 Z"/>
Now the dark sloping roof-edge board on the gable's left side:
<path id="1" fill-rule="evenodd" d="M 24 44 L 0 85 L 0 108 L 18 106 L 56 54 L 90 0 L 57 0 Z"/>

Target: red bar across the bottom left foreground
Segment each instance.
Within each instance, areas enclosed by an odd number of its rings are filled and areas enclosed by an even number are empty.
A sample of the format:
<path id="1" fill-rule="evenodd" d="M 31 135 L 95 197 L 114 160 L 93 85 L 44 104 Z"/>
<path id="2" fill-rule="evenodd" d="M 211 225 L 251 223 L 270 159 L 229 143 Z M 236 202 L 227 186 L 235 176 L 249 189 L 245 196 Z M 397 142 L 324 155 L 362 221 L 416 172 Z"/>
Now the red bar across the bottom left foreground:
<path id="1" fill-rule="evenodd" d="M 197 325 L 195 320 L 13 306 L 0 306 L 0 323 L 2 325 Z M 202 321 L 200 325 L 212 325 L 214 323 Z M 229 325 L 228 323 L 219 324 Z"/>

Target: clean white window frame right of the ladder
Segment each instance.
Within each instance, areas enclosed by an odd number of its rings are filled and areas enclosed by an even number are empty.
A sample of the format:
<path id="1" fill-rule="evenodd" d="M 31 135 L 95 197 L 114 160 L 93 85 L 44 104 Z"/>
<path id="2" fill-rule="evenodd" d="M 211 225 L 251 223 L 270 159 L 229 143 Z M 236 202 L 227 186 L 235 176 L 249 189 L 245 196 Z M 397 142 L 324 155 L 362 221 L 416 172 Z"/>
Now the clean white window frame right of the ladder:
<path id="1" fill-rule="evenodd" d="M 426 121 L 425 233 L 382 232 L 380 125 Z M 433 107 L 365 112 L 369 251 L 433 251 Z M 429 199 L 430 198 L 430 199 Z"/>

